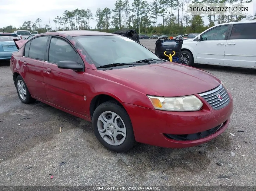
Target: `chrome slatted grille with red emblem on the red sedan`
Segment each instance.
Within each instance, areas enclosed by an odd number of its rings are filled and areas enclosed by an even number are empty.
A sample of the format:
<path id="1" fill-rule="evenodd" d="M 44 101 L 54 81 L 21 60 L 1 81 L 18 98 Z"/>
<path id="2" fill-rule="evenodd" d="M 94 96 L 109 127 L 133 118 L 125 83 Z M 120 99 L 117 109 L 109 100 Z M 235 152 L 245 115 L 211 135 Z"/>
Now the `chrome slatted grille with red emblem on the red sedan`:
<path id="1" fill-rule="evenodd" d="M 228 92 L 222 84 L 220 84 L 217 88 L 214 88 L 213 90 L 201 93 L 199 95 L 203 97 L 204 100 L 206 100 L 214 110 L 220 110 L 223 107 L 226 107 L 230 102 Z M 222 101 L 220 101 L 218 95 L 222 97 Z"/>

